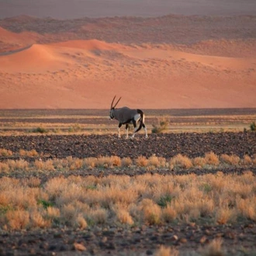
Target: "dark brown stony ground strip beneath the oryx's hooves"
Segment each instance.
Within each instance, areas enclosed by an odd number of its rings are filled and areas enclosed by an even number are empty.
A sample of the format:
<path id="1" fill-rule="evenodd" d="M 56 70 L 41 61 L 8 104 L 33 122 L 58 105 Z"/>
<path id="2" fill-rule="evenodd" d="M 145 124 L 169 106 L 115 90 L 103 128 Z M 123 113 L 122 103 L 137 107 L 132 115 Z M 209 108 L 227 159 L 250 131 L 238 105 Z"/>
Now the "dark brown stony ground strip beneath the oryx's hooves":
<path id="1" fill-rule="evenodd" d="M 19 153 L 23 150 L 36 150 L 43 158 L 65 158 L 68 156 L 85 158 L 112 156 L 137 158 L 174 157 L 183 154 L 187 157 L 203 157 L 207 152 L 215 154 L 256 154 L 256 133 L 164 133 L 137 134 L 135 139 L 118 139 L 115 135 L 40 135 L 0 137 L 0 148 Z M 15 155 L 12 156 L 15 158 Z M 6 157 L 0 157 L 4 161 Z M 29 159 L 27 159 L 29 161 Z"/>

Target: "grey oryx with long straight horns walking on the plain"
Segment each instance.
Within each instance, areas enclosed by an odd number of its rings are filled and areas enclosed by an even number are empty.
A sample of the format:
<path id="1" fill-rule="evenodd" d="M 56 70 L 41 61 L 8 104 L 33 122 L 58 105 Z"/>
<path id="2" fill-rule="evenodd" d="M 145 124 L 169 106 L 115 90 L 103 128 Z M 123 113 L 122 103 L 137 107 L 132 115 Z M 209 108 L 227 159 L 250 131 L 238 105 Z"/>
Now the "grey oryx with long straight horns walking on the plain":
<path id="1" fill-rule="evenodd" d="M 109 117 L 110 117 L 110 119 L 116 119 L 119 121 L 118 137 L 120 137 L 120 127 L 123 124 L 125 124 L 126 125 L 126 138 L 128 138 L 129 123 L 133 123 L 134 130 L 133 130 L 132 138 L 135 136 L 135 133 L 137 133 L 141 129 L 141 127 L 144 128 L 146 138 L 147 138 L 147 127 L 145 126 L 145 123 L 144 123 L 144 120 L 145 120 L 144 112 L 141 111 L 140 109 L 129 109 L 127 107 L 116 109 L 116 105 L 118 104 L 121 97 L 116 102 L 116 104 L 113 105 L 115 99 L 116 99 L 116 96 L 112 100 Z"/>

